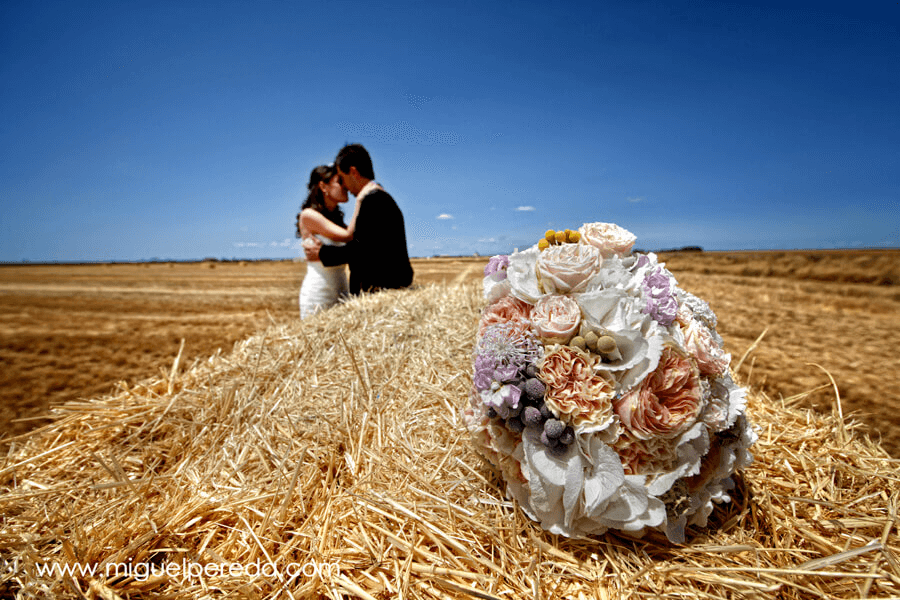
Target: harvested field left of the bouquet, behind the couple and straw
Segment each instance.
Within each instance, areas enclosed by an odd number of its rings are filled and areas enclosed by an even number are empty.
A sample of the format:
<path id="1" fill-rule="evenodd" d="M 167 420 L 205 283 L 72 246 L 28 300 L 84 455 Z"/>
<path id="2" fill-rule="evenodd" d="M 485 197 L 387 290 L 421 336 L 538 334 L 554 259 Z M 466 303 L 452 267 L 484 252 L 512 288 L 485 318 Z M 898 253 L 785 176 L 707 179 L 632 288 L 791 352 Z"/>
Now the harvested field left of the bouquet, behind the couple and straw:
<path id="1" fill-rule="evenodd" d="M 417 283 L 470 278 L 483 262 L 416 261 Z M 157 375 L 179 351 L 190 364 L 298 318 L 304 273 L 292 261 L 0 266 L 0 438 Z"/>

